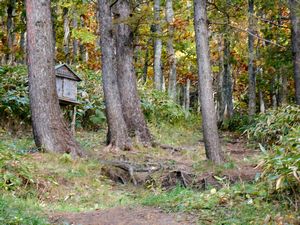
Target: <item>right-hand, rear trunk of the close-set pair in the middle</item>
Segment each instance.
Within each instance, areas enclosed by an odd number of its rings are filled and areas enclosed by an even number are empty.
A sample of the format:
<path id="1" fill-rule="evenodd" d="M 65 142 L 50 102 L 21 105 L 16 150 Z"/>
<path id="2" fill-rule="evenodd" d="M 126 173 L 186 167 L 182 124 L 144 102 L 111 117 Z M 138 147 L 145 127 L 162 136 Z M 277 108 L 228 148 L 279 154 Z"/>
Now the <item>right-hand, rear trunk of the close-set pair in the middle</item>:
<path id="1" fill-rule="evenodd" d="M 132 14 L 130 1 L 123 0 L 116 4 L 115 18 L 128 21 Z M 134 70 L 133 33 L 128 24 L 121 22 L 116 27 L 117 46 L 117 76 L 118 87 L 123 108 L 123 116 L 129 135 L 136 137 L 142 143 L 150 143 L 151 135 L 148 130 L 141 101 L 137 93 L 137 82 Z"/>

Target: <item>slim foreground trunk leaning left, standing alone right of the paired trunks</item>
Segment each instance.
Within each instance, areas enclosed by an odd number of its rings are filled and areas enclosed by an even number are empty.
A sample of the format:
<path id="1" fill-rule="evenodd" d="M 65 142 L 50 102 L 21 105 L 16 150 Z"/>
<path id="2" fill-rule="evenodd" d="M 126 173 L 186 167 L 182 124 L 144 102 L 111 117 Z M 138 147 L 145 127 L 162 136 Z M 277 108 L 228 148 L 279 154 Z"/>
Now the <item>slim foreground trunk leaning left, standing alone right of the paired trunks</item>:
<path id="1" fill-rule="evenodd" d="M 206 0 L 194 0 L 196 52 L 201 98 L 202 126 L 206 156 L 216 164 L 222 162 L 217 118 L 214 108 L 209 58 Z"/>

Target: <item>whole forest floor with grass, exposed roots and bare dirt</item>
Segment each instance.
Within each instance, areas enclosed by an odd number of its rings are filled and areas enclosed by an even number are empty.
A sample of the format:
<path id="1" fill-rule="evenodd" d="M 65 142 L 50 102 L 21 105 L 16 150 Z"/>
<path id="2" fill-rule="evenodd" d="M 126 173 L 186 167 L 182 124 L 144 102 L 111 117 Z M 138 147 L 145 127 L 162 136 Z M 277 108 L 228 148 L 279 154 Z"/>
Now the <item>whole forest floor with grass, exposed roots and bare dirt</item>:
<path id="1" fill-rule="evenodd" d="M 10 196 L 8 203 L 14 198 L 26 201 L 23 208 L 39 208 L 50 224 L 261 224 L 283 221 L 280 213 L 295 218 L 266 200 L 264 189 L 247 184 L 259 172 L 259 154 L 241 139 L 224 134 L 226 162 L 214 166 L 205 160 L 199 128 L 161 126 L 152 133 L 154 147 L 111 152 L 104 150 L 104 130 L 77 132 L 88 157 L 74 160 L 37 152 L 30 135 L 0 132 L 0 149 L 16 154 L 10 172 L 24 166 L 21 175 L 29 173 L 23 184 L 0 194 Z"/>

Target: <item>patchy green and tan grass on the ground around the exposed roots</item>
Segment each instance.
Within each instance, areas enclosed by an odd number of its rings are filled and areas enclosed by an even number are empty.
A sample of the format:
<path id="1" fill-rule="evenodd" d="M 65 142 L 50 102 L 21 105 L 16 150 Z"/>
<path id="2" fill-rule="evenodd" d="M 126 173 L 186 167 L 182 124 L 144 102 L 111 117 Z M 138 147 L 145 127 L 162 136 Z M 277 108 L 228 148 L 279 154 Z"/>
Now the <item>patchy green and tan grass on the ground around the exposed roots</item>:
<path id="1" fill-rule="evenodd" d="M 198 145 L 200 128 L 189 124 L 151 127 L 159 142 L 173 146 Z M 105 132 L 78 132 L 82 146 L 93 156 L 100 156 Z M 139 147 L 139 146 L 137 146 Z M 69 155 L 34 153 L 30 136 L 12 137 L 0 133 L 0 150 L 16 155 L 19 164 L 28 168 L 31 185 L 15 190 L 0 189 L 0 224 L 47 224 L 45 214 L 107 209 L 116 206 L 145 205 L 160 207 L 168 212 L 191 213 L 199 224 L 297 224 L 299 213 L 289 210 L 285 201 L 270 198 L 267 186 L 260 183 L 224 184 L 223 188 L 196 191 L 176 187 L 170 191 L 159 186 L 149 189 L 133 188 L 113 183 L 101 174 L 102 165 L 96 157 L 73 160 Z M 195 171 L 222 172 L 235 169 L 232 161 L 215 167 L 204 162 L 204 150 L 182 151 L 180 157 L 169 159 L 166 150 L 145 149 L 126 157 L 131 160 L 147 158 L 172 163 L 192 162 Z M 173 161 L 172 161 L 173 160 Z M 4 223 L 1 222 L 5 221 Z"/>

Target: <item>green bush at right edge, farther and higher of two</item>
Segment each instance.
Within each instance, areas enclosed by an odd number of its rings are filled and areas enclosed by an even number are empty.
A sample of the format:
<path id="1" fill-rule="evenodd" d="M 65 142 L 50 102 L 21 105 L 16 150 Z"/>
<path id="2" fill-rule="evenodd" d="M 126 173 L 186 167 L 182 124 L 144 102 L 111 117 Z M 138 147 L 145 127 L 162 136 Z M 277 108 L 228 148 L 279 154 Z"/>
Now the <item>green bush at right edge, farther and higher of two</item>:
<path id="1" fill-rule="evenodd" d="M 258 116 L 246 133 L 248 139 L 265 147 L 280 144 L 293 127 L 300 126 L 300 107 L 286 106 Z"/>

